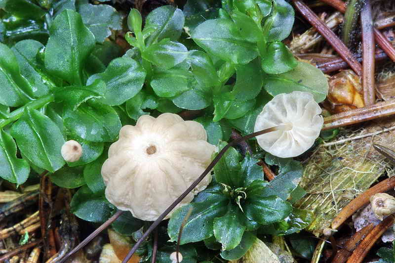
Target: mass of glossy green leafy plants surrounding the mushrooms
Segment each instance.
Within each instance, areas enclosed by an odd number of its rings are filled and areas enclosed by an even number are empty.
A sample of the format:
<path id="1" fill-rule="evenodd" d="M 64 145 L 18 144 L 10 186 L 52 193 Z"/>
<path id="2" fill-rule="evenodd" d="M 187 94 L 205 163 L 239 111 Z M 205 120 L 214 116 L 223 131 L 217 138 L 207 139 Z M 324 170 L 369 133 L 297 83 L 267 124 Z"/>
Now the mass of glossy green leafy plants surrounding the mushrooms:
<path id="1" fill-rule="evenodd" d="M 321 71 L 297 61 L 281 42 L 294 22 L 285 0 L 189 0 L 183 10 L 158 7 L 145 22 L 132 9 L 125 18 L 132 48 L 124 54 L 114 42 L 122 17 L 109 5 L 0 0 L 0 7 L 0 176 L 21 185 L 48 171 L 56 185 L 78 188 L 71 209 L 87 221 L 103 222 L 116 212 L 100 171 L 122 125 L 145 114 L 198 110 L 192 119 L 221 148 L 232 129 L 253 132 L 274 95 L 307 91 L 320 102 L 328 91 Z M 74 163 L 60 153 L 70 139 L 83 151 Z M 183 262 L 214 262 L 219 254 L 238 259 L 257 236 L 287 235 L 309 224 L 311 214 L 292 207 L 304 194 L 301 164 L 266 154 L 279 173 L 264 181 L 256 164 L 264 153 L 250 144 L 253 154 L 232 148 L 209 187 L 161 226 L 158 262 L 175 251 L 185 218 Z M 135 241 L 146 226 L 130 213 L 113 223 Z M 139 251 L 142 261 L 151 259 L 151 241 Z"/>

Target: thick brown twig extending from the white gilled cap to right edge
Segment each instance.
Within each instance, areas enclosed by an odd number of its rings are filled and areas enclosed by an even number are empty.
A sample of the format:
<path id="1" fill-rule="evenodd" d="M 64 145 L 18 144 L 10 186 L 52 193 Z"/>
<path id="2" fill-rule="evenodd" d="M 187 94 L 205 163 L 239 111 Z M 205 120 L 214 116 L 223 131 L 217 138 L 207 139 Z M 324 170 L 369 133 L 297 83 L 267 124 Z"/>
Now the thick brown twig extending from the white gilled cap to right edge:
<path id="1" fill-rule="evenodd" d="M 395 99 L 325 117 L 322 131 L 366 122 L 393 114 L 395 114 Z"/>

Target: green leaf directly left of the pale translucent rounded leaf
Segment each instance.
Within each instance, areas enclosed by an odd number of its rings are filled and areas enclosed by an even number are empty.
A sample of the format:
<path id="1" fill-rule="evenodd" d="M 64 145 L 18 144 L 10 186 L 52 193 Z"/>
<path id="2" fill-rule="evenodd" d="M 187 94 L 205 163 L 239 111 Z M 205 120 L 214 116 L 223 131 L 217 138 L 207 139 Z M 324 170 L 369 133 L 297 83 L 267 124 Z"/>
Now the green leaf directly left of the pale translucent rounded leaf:
<path id="1" fill-rule="evenodd" d="M 261 92 L 263 73 L 258 59 L 246 65 L 237 65 L 236 76 L 236 84 L 232 90 L 236 100 L 246 101 L 255 98 Z"/>

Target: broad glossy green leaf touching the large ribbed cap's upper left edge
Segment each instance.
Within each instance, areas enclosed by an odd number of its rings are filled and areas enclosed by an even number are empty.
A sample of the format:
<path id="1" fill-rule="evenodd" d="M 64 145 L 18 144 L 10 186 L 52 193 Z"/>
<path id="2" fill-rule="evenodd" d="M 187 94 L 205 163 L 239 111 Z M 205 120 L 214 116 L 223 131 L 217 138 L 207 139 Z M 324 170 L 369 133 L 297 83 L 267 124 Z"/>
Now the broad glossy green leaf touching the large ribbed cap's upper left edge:
<path id="1" fill-rule="evenodd" d="M 76 110 L 67 108 L 63 120 L 70 131 L 87 141 L 114 141 L 121 128 L 117 112 L 95 99 L 87 100 Z"/>

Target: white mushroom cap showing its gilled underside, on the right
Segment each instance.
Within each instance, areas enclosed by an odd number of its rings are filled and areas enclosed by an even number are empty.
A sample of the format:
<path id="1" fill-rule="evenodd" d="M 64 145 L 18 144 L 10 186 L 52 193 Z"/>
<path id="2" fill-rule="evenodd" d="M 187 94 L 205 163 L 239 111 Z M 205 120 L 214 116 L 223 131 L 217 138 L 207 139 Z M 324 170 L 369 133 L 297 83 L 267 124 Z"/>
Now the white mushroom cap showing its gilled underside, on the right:
<path id="1" fill-rule="evenodd" d="M 295 157 L 313 146 L 323 125 L 321 108 L 313 95 L 293 91 L 276 95 L 264 107 L 255 122 L 255 132 L 282 126 L 257 136 L 265 151 L 280 158 Z"/>

